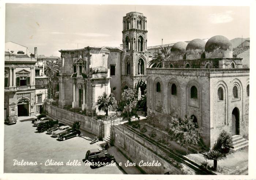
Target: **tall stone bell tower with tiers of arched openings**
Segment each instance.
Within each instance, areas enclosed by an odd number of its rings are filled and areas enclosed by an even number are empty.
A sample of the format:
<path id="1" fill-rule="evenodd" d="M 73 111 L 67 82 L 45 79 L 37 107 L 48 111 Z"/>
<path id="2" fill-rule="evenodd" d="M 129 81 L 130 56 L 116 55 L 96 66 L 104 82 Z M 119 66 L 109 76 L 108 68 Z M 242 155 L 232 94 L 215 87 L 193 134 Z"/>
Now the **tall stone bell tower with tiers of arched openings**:
<path id="1" fill-rule="evenodd" d="M 133 89 L 143 79 L 146 81 L 148 64 L 147 17 L 139 12 L 129 12 L 123 17 L 122 89 Z"/>

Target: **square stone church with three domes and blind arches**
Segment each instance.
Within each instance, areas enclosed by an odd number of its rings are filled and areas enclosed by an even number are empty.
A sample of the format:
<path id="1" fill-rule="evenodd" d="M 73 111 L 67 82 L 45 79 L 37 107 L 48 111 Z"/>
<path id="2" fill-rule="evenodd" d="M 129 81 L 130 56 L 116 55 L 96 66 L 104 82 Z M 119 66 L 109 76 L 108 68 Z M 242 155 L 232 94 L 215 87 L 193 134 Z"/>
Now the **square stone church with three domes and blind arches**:
<path id="1" fill-rule="evenodd" d="M 193 117 L 208 147 L 222 130 L 248 138 L 249 69 L 233 58 L 229 40 L 178 42 L 171 52 L 164 68 L 147 69 L 148 119 L 166 127 L 172 118 Z"/>

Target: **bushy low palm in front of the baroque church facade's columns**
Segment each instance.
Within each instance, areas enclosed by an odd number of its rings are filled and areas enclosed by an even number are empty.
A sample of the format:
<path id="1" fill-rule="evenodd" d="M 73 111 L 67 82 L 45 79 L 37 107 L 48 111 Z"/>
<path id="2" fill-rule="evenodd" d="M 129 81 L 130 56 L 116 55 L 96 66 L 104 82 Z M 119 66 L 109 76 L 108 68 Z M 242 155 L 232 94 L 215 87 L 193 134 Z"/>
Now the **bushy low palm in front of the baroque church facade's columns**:
<path id="1" fill-rule="evenodd" d="M 107 97 L 107 94 L 104 92 L 102 96 L 98 97 L 96 105 L 98 106 L 98 110 L 105 111 L 106 116 L 108 116 L 108 111 L 114 110 L 116 107 L 116 98 L 113 93 Z"/>

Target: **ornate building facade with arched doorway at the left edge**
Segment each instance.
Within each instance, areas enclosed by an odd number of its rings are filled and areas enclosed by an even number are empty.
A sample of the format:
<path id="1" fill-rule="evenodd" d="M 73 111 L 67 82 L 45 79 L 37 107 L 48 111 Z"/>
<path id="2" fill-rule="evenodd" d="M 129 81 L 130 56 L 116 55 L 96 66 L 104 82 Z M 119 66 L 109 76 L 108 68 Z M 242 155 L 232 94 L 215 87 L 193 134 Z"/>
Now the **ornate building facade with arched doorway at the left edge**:
<path id="1" fill-rule="evenodd" d="M 35 58 L 5 52 L 4 118 L 35 114 Z"/>

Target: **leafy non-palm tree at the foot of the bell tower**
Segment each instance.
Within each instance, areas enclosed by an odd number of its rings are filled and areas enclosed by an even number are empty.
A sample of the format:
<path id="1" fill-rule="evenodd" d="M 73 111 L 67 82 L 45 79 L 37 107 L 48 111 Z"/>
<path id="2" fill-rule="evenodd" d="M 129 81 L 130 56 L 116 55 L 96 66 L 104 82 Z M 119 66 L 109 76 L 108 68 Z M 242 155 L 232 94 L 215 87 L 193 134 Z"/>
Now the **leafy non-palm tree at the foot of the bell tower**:
<path id="1" fill-rule="evenodd" d="M 130 106 L 135 109 L 138 105 L 138 91 L 136 89 L 125 89 L 121 94 L 121 101 L 119 103 L 119 108 L 121 111 L 124 110 L 125 106 Z"/>

